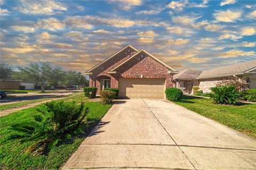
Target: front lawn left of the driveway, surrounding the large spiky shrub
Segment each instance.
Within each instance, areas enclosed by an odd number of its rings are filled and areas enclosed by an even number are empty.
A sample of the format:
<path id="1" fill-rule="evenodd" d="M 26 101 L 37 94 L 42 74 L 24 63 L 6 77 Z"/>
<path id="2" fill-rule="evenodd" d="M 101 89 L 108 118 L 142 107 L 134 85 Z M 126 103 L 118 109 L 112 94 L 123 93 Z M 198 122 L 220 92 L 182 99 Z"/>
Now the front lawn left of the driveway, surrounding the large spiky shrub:
<path id="1" fill-rule="evenodd" d="M 72 96 L 75 97 L 75 96 Z M 83 97 L 84 98 L 84 97 Z M 85 99 L 85 98 L 84 98 Z M 70 100 L 66 99 L 66 100 Z M 82 97 L 75 99 L 77 102 Z M 11 113 L 0 117 L 0 167 L 1 169 L 59 169 L 81 145 L 83 140 L 97 125 L 101 118 L 107 113 L 111 105 L 102 105 L 97 102 L 86 102 L 85 107 L 90 111 L 86 115 L 86 121 L 76 130 L 65 135 L 57 147 L 51 149 L 46 155 L 38 152 L 26 152 L 29 146 L 33 146 L 36 141 L 19 142 L 18 139 L 10 139 L 10 125 L 26 121 L 33 121 L 35 115 L 42 114 L 38 108 L 43 104 L 23 109 L 22 111 Z"/>

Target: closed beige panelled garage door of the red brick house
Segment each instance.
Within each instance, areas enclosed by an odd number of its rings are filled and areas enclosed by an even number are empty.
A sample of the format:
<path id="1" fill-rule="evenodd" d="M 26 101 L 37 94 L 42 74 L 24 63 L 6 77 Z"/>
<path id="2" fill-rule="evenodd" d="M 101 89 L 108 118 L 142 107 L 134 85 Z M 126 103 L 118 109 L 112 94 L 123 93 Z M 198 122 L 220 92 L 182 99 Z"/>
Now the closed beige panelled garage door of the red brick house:
<path id="1" fill-rule="evenodd" d="M 119 79 L 120 98 L 164 98 L 165 79 Z"/>

